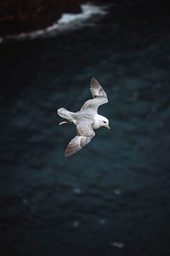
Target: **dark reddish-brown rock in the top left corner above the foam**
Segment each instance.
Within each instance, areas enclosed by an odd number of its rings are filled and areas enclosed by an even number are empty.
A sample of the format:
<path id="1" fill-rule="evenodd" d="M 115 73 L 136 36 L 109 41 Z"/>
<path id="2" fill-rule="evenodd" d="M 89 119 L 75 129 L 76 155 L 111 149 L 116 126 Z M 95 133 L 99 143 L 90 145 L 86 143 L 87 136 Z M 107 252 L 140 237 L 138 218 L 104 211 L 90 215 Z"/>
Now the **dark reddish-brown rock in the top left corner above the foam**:
<path id="1" fill-rule="evenodd" d="M 0 36 L 31 32 L 50 26 L 65 12 L 81 11 L 83 0 L 2 0 Z"/>

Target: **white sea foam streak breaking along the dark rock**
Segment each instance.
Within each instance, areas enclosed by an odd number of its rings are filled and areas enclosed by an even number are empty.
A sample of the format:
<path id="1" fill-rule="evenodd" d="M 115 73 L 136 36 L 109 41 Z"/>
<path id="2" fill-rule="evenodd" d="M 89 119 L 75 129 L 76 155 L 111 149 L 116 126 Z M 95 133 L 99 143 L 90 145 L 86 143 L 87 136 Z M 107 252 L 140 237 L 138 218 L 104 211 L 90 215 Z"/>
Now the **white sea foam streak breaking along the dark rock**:
<path id="1" fill-rule="evenodd" d="M 85 3 L 81 5 L 82 12 L 80 14 L 63 14 L 61 18 L 54 22 L 52 26 L 36 32 L 23 32 L 17 36 L 8 36 L 0 38 L 0 43 L 6 40 L 24 40 L 29 38 L 47 38 L 54 37 L 60 32 L 80 29 L 82 26 L 94 26 L 95 23 L 108 13 L 109 5 L 94 5 Z"/>

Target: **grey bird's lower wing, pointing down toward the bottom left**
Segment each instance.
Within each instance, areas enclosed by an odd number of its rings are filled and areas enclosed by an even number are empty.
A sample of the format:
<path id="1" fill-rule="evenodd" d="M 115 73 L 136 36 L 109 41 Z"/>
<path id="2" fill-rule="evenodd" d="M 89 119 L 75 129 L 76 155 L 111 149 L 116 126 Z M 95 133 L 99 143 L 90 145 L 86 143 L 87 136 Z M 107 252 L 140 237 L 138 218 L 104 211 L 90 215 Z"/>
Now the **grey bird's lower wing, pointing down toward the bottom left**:
<path id="1" fill-rule="evenodd" d="M 65 156 L 77 153 L 80 149 L 86 146 L 95 136 L 92 128 L 93 121 L 87 119 L 77 124 L 77 136 L 74 137 L 68 144 L 65 150 Z"/>

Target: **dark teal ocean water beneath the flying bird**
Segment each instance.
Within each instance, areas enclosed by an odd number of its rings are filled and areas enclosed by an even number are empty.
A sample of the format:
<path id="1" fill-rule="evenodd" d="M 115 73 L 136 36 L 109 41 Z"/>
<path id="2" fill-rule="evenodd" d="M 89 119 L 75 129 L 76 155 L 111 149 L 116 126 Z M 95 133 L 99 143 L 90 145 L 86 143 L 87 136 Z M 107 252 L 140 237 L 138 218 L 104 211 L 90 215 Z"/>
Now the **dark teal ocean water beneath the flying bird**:
<path id="1" fill-rule="evenodd" d="M 18 256 L 170 255 L 168 16 L 133 3 L 95 26 L 0 44 L 0 252 Z M 156 12 L 157 11 L 157 12 Z M 95 77 L 100 128 L 65 158 Z"/>

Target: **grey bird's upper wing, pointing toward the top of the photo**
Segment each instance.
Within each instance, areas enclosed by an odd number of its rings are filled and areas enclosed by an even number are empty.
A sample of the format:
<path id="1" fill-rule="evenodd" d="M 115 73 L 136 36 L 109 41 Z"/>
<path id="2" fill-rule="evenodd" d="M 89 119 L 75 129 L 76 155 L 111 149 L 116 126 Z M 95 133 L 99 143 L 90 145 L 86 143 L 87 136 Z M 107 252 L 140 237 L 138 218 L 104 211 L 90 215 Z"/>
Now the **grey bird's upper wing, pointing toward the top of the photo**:
<path id="1" fill-rule="evenodd" d="M 103 105 L 108 102 L 107 95 L 105 90 L 101 87 L 99 82 L 96 79 L 90 81 L 90 91 L 94 99 L 88 100 L 82 105 L 81 111 L 86 111 L 89 108 L 97 112 L 100 105 Z"/>

